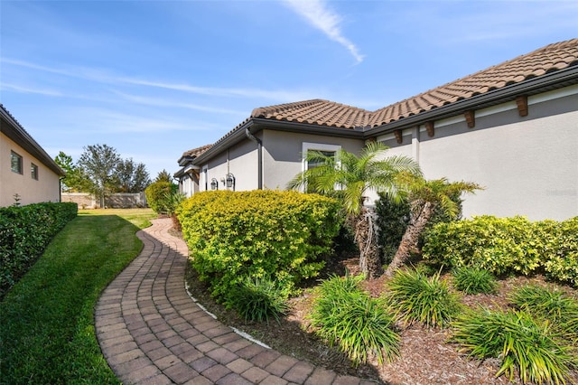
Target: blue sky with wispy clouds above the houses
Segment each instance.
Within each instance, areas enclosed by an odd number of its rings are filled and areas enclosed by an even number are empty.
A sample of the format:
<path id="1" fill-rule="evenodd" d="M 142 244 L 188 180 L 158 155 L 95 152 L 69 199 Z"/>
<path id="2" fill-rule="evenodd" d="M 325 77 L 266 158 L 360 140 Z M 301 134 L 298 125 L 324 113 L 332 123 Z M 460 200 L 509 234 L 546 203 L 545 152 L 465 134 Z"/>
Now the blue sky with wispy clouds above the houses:
<path id="1" fill-rule="evenodd" d="M 0 102 L 52 157 L 154 179 L 253 108 L 375 110 L 577 36 L 576 1 L 0 0 Z"/>

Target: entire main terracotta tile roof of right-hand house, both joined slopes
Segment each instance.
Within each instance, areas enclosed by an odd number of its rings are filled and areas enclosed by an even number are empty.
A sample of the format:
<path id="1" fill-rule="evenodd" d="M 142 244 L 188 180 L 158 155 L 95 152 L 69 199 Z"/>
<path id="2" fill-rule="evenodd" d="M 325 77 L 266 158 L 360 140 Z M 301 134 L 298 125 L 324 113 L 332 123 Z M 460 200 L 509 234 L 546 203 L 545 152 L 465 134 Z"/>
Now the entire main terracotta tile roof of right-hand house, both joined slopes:
<path id="1" fill-rule="evenodd" d="M 325 127 L 378 127 L 403 117 L 469 99 L 510 84 L 578 65 L 578 39 L 556 42 L 510 61 L 430 89 L 391 106 L 368 111 L 328 100 L 312 99 L 256 108 L 251 117 L 307 123 Z"/>

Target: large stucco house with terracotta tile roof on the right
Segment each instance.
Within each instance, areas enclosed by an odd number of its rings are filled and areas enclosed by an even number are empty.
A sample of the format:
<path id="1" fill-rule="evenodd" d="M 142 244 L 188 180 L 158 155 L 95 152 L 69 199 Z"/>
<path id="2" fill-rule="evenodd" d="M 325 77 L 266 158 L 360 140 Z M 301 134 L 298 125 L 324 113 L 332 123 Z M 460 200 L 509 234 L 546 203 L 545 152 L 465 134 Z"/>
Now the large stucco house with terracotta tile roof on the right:
<path id="1" fill-rule="evenodd" d="M 578 39 L 549 44 L 415 97 L 368 111 L 313 99 L 256 108 L 212 146 L 184 153 L 188 194 L 284 189 L 309 150 L 368 141 L 410 155 L 428 179 L 479 183 L 464 216 L 578 215 Z"/>

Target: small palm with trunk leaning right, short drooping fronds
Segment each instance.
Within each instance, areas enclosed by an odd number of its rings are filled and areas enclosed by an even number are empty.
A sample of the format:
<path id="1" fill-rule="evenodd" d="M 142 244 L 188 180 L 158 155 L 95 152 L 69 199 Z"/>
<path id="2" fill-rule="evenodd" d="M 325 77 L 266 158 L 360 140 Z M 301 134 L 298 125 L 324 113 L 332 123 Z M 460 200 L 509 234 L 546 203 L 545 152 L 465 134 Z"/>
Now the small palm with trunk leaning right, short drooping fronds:
<path id="1" fill-rule="evenodd" d="M 406 232 L 397 248 L 396 255 L 387 267 L 386 276 L 392 277 L 398 268 L 401 268 L 417 251 L 420 236 L 428 222 L 432 219 L 436 210 L 442 210 L 444 214 L 455 217 L 460 206 L 452 200 L 462 192 L 480 190 L 482 187 L 470 182 L 448 182 L 447 179 L 435 179 L 426 181 L 423 177 L 404 175 L 406 180 L 406 199 L 410 202 L 410 221 Z"/>

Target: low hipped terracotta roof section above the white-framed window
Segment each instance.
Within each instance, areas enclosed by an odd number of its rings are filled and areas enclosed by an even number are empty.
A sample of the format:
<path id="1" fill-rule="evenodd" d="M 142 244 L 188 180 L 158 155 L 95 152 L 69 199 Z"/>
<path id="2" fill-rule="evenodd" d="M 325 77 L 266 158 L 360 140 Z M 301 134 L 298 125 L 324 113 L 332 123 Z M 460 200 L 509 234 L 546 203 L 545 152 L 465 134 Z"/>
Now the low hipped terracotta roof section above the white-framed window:
<path id="1" fill-rule="evenodd" d="M 251 117 L 340 128 L 365 127 L 370 116 L 366 109 L 322 99 L 255 108 L 251 113 Z"/>

